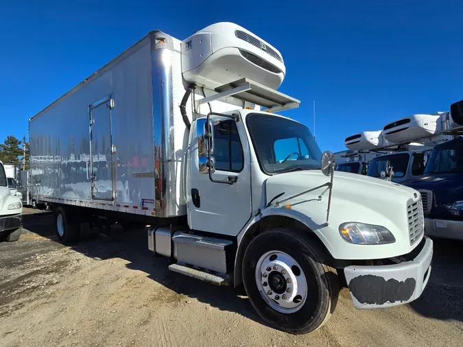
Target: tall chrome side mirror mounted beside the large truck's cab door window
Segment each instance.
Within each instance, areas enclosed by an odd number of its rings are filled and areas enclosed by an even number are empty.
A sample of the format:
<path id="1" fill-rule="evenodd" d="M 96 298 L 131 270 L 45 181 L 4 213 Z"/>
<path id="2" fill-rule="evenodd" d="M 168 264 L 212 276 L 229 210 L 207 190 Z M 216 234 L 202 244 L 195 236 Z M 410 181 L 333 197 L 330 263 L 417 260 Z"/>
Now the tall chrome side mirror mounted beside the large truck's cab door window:
<path id="1" fill-rule="evenodd" d="M 214 169 L 214 132 L 213 121 L 206 119 L 198 119 L 196 123 L 196 134 L 198 136 L 198 165 L 200 173 L 209 173 Z M 211 160 L 209 160 L 209 156 Z"/>

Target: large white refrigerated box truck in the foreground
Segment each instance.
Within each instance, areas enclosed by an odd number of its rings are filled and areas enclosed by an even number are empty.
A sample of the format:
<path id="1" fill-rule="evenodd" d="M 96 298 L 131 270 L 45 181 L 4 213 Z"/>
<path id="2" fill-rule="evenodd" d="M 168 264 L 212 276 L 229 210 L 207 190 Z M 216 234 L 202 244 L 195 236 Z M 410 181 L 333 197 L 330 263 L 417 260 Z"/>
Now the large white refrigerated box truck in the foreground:
<path id="1" fill-rule="evenodd" d="M 432 257 L 420 195 L 333 172 L 310 130 L 274 113 L 299 105 L 276 91 L 285 73 L 233 23 L 150 32 L 30 119 L 33 199 L 64 243 L 94 219 L 149 224 L 170 270 L 244 283 L 290 333 L 322 326 L 342 284 L 360 309 L 415 300 Z"/>

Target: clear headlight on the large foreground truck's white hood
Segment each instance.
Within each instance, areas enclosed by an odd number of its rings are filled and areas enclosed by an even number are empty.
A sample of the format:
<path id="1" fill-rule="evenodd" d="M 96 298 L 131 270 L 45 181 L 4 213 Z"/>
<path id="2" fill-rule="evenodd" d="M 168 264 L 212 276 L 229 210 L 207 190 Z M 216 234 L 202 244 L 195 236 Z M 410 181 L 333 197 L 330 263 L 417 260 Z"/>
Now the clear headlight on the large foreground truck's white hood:
<path id="1" fill-rule="evenodd" d="M 348 222 L 341 224 L 339 230 L 345 241 L 357 245 L 384 245 L 396 241 L 394 235 L 383 226 Z"/>

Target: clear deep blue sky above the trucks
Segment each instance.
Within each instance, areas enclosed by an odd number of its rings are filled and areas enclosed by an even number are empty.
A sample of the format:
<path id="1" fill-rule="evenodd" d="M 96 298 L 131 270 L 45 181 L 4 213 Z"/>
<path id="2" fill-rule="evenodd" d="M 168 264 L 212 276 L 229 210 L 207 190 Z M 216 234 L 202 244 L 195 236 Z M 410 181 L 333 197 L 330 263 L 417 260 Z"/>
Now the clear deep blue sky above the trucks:
<path id="1" fill-rule="evenodd" d="M 259 3 L 265 5 L 259 5 Z M 462 1 L 0 0 L 0 140 L 152 29 L 176 38 L 231 21 L 279 49 L 285 115 L 322 150 L 463 99 Z"/>

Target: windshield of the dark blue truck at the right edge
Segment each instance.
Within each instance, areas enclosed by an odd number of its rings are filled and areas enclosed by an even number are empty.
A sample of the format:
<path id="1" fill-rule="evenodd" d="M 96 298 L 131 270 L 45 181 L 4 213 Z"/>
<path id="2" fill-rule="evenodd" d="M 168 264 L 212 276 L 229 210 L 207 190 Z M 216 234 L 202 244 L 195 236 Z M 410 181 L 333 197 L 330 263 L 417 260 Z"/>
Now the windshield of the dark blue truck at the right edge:
<path id="1" fill-rule="evenodd" d="M 463 171 L 463 139 L 434 147 L 427 160 L 425 173 Z"/>

